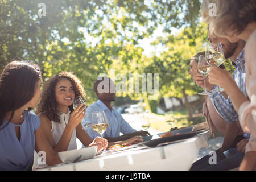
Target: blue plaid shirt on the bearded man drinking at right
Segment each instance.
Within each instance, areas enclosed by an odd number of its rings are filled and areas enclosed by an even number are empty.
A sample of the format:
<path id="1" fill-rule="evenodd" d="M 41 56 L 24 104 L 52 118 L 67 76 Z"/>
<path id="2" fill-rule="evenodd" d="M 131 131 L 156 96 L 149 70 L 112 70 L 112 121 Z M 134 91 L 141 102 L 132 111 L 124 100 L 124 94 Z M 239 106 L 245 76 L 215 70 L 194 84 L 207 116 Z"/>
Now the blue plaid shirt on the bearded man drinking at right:
<path id="1" fill-rule="evenodd" d="M 246 87 L 245 87 L 245 80 L 246 80 L 246 71 L 245 71 L 245 59 L 244 59 L 244 52 L 243 51 L 237 56 L 236 60 L 234 60 L 234 63 L 232 62 L 232 65 L 236 68 L 233 74 L 233 78 L 237 83 L 238 88 L 245 94 L 246 94 Z M 215 110 L 218 114 L 228 123 L 234 123 L 238 121 L 238 113 L 234 109 L 234 106 L 228 97 L 226 98 L 222 96 L 222 94 L 218 91 L 218 86 L 214 86 L 214 88 L 208 92 L 212 95 L 210 96 L 213 105 L 215 107 Z"/>

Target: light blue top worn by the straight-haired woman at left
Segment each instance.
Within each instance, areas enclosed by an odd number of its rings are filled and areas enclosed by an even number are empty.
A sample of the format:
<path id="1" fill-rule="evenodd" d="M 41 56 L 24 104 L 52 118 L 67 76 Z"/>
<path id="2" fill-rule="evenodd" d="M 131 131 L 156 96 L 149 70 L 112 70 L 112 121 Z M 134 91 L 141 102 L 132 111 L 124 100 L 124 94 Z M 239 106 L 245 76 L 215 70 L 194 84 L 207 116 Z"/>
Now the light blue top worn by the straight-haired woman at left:
<path id="1" fill-rule="evenodd" d="M 0 130 L 0 171 L 27 170 L 33 162 L 35 131 L 40 126 L 40 119 L 32 112 L 23 111 L 23 114 L 22 124 L 10 122 Z M 1 128 L 7 122 L 5 119 Z M 15 126 L 20 126 L 20 140 L 17 138 Z"/>

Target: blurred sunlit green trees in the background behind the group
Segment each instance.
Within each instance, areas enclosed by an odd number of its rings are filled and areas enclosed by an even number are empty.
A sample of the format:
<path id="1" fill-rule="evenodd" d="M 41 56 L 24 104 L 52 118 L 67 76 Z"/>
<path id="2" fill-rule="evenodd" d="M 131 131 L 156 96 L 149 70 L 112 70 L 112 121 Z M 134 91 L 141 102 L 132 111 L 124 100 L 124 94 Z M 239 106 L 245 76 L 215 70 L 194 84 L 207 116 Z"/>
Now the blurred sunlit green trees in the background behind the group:
<path id="1" fill-rule="evenodd" d="M 39 3 L 46 5 L 41 18 Z M 93 82 L 102 73 L 112 77 L 114 70 L 114 76 L 127 78 L 129 73 L 158 73 L 154 100 L 148 100 L 148 93 L 122 92 L 114 105 L 142 101 L 152 113 L 158 107 L 177 111 L 182 126 L 199 123 L 204 121 L 198 117 L 204 97 L 188 101 L 201 91 L 188 71 L 190 58 L 204 51 L 207 40 L 200 5 L 200 0 L 0 0 L 0 67 L 12 59 L 32 61 L 44 81 L 71 71 L 82 80 L 88 105 L 97 100 Z M 233 71 L 230 61 L 225 65 Z M 181 105 L 166 108 L 163 98 L 176 98 Z"/>

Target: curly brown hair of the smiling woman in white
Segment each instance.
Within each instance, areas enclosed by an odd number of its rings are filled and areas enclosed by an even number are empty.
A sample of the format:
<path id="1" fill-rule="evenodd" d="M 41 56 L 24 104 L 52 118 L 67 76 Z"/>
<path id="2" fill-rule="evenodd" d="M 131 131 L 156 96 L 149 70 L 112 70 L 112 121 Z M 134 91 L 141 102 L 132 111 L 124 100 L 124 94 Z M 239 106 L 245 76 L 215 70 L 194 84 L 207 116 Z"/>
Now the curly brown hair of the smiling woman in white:
<path id="1" fill-rule="evenodd" d="M 35 111 L 36 114 L 39 113 L 46 113 L 47 117 L 50 121 L 55 121 L 60 123 L 60 110 L 57 108 L 57 101 L 55 97 L 55 87 L 57 83 L 66 78 L 67 80 L 71 81 L 75 96 L 81 96 L 85 101 L 85 91 L 82 87 L 82 82 L 73 75 L 73 72 L 61 72 L 44 82 L 43 91 L 41 95 L 41 100 L 38 104 L 38 107 Z M 69 110 L 72 112 L 73 105 L 69 106 Z"/>

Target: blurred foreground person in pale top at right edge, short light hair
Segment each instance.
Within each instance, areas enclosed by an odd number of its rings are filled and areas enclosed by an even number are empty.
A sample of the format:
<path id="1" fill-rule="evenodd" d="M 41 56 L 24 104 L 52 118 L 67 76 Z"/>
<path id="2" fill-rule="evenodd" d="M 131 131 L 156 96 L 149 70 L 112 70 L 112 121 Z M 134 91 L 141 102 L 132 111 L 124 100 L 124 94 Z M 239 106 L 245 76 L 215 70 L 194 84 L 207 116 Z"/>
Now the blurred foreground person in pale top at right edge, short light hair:
<path id="1" fill-rule="evenodd" d="M 204 7 L 212 1 L 204 0 Z M 249 143 L 246 144 L 245 157 L 240 165 L 240 170 L 256 169 L 256 1 L 255 0 L 215 0 L 217 14 L 207 17 L 210 31 L 217 36 L 227 38 L 230 42 L 238 39 L 246 41 L 245 69 L 246 92 L 249 98 L 242 96 L 241 90 L 232 89 L 234 82 L 226 82 L 230 75 L 221 72 L 218 68 L 210 71 L 209 82 L 225 89 L 239 114 L 240 125 L 246 132 L 250 132 Z M 205 11 L 206 12 L 206 11 Z M 219 79 L 221 77 L 221 79 Z"/>

